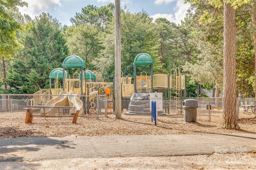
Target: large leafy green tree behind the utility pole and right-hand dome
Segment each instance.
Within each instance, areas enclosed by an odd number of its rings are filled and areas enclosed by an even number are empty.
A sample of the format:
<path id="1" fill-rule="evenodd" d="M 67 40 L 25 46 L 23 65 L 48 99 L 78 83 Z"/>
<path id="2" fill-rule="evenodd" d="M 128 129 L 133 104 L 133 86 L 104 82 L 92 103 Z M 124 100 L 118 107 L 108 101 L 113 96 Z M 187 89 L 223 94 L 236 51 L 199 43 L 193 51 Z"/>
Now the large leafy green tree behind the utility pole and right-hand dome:
<path id="1" fill-rule="evenodd" d="M 136 55 L 148 53 L 154 61 L 154 72 L 161 69 L 158 57 L 158 35 L 152 18 L 142 11 L 136 14 L 121 11 L 121 68 L 124 76 L 133 76 L 133 62 Z M 105 81 L 114 78 L 114 22 L 109 23 L 108 29 L 100 35 L 104 49 L 94 64 Z M 148 67 L 146 68 L 148 69 Z M 145 67 L 137 69 L 145 71 Z"/>

